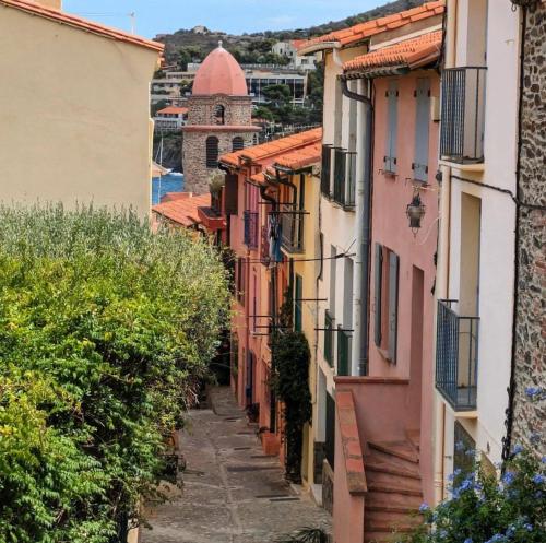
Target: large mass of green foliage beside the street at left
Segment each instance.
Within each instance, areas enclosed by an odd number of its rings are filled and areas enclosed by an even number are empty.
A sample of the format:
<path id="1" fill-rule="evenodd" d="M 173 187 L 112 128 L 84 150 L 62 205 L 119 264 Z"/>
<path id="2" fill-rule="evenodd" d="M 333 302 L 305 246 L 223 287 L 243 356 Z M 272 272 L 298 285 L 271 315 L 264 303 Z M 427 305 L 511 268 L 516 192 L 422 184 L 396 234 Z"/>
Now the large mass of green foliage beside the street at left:
<path id="1" fill-rule="evenodd" d="M 228 278 L 206 241 L 132 212 L 0 223 L 0 542 L 115 541 L 215 354 Z"/>

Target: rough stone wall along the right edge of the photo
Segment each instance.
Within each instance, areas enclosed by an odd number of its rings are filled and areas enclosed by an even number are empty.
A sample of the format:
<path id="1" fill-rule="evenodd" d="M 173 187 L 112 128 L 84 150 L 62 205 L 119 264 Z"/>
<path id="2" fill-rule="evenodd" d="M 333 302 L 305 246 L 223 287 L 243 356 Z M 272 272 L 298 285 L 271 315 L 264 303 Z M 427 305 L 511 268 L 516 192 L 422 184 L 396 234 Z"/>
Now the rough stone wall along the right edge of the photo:
<path id="1" fill-rule="evenodd" d="M 519 199 L 546 204 L 546 3 L 529 9 Z M 513 444 L 546 455 L 546 214 L 519 208 Z"/>

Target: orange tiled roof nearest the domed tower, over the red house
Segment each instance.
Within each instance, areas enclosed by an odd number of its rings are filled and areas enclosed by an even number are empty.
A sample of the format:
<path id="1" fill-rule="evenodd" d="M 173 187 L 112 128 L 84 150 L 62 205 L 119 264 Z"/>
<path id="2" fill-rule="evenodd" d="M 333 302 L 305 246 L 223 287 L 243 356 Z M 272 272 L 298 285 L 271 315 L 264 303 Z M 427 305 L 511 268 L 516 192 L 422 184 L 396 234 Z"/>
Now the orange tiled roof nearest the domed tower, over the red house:
<path id="1" fill-rule="evenodd" d="M 235 153 L 225 154 L 221 156 L 219 161 L 226 165 L 238 166 L 241 160 L 254 163 L 259 163 L 266 158 L 280 160 L 281 155 L 314 143 L 320 143 L 321 141 L 322 128 L 314 128 L 306 132 L 299 132 L 297 134 L 287 135 L 286 138 L 281 138 L 280 140 L 269 141 L 261 145 L 254 145 L 252 147 L 241 149 Z"/>

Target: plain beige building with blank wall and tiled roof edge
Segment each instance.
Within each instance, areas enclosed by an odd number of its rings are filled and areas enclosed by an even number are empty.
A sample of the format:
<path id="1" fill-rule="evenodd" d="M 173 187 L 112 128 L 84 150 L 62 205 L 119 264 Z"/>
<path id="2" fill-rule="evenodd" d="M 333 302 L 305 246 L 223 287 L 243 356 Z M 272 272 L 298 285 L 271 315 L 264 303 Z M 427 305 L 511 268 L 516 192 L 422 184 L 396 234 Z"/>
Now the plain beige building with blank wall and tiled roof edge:
<path id="1" fill-rule="evenodd" d="M 64 13 L 60 0 L 0 0 L 0 72 L 10 74 L 0 201 L 149 215 L 150 82 L 163 48 Z"/>

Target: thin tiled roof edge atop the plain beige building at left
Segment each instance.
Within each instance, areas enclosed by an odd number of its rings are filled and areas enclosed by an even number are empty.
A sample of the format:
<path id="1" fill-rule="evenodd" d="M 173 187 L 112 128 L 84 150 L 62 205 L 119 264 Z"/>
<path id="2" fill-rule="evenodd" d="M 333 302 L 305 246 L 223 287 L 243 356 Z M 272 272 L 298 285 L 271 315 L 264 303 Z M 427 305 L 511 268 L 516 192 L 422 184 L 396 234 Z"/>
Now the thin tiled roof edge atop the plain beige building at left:
<path id="1" fill-rule="evenodd" d="M 145 39 L 126 32 L 118 31 L 116 28 L 110 28 L 109 26 L 104 26 L 98 23 L 93 23 L 85 19 L 69 15 L 59 10 L 52 8 L 46 8 L 38 3 L 28 0 L 0 0 L 0 5 L 4 8 L 14 8 L 20 11 L 29 13 L 31 15 L 38 15 L 44 19 L 49 19 L 51 21 L 57 21 L 58 23 L 66 24 L 68 26 L 73 26 L 74 28 L 80 28 L 92 34 L 97 34 L 99 36 L 117 39 L 119 42 L 126 42 L 128 44 L 139 45 L 142 47 L 147 47 L 149 49 L 154 49 L 162 52 L 165 46 L 151 39 Z"/>

